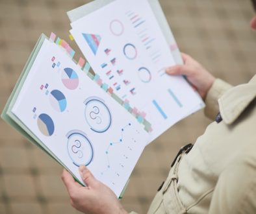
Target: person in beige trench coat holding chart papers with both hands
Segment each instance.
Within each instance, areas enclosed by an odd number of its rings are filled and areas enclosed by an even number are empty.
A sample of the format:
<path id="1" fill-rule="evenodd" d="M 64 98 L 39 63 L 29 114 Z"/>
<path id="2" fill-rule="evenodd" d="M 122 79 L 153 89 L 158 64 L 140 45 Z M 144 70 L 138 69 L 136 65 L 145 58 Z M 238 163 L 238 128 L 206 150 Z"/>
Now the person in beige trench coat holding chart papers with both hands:
<path id="1" fill-rule="evenodd" d="M 256 11 L 256 0 L 252 2 Z M 256 16 L 251 28 L 256 30 Z M 182 57 L 184 65 L 166 73 L 186 75 L 205 100 L 205 114 L 216 120 L 194 146 L 180 150 L 148 213 L 256 213 L 256 75 L 248 84 L 232 87 L 187 54 Z M 66 170 L 62 173 L 74 208 L 127 213 L 109 187 L 86 167 L 79 171 L 86 187 Z"/>

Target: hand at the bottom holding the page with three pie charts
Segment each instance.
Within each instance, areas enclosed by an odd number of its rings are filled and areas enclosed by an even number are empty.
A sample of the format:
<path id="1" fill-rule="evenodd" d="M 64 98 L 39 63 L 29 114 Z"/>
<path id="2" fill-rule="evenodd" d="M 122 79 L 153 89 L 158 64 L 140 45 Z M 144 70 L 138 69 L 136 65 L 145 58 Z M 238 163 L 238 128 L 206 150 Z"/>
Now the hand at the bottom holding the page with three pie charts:
<path id="1" fill-rule="evenodd" d="M 96 180 L 86 167 L 79 167 L 79 172 L 86 187 L 75 182 L 65 169 L 62 172 L 62 180 L 70 195 L 73 208 L 87 214 L 127 213 L 113 191 Z"/>

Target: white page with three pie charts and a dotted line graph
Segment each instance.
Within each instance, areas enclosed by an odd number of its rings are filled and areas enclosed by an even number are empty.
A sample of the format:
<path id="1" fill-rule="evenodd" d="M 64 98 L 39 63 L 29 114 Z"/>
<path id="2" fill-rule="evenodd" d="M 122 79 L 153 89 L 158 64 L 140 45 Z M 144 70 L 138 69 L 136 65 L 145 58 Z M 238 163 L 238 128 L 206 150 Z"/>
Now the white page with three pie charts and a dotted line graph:
<path id="1" fill-rule="evenodd" d="M 12 109 L 81 181 L 78 166 L 117 196 L 148 141 L 144 127 L 45 40 Z"/>

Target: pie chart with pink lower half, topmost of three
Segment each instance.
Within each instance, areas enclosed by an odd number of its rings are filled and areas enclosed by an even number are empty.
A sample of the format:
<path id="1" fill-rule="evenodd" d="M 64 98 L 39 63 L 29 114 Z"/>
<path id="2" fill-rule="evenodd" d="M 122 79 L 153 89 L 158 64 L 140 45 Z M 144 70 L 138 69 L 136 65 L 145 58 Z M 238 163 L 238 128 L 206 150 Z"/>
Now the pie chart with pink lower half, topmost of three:
<path id="1" fill-rule="evenodd" d="M 76 89 L 79 84 L 77 73 L 70 67 L 64 68 L 64 71 L 62 71 L 62 83 L 68 89 Z"/>

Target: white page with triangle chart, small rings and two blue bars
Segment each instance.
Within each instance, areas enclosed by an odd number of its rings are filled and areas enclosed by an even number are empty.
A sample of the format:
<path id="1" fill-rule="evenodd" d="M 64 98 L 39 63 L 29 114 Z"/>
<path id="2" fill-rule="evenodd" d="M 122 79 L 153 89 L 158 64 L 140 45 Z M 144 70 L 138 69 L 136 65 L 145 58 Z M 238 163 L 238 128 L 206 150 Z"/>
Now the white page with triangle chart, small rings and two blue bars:
<path id="1" fill-rule="evenodd" d="M 144 110 L 153 128 L 150 141 L 204 106 L 183 77 L 165 74 L 175 62 L 147 0 L 116 0 L 71 27 L 94 71 L 119 97 Z"/>

